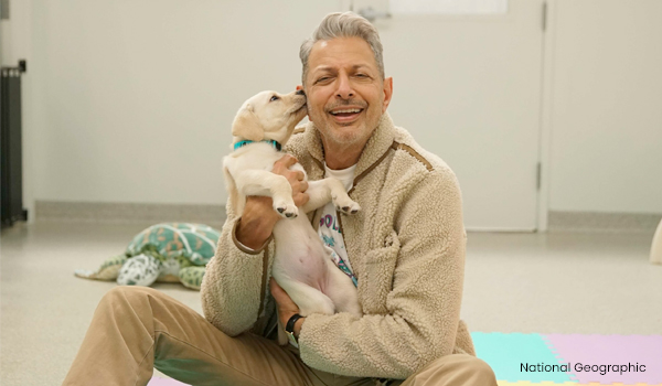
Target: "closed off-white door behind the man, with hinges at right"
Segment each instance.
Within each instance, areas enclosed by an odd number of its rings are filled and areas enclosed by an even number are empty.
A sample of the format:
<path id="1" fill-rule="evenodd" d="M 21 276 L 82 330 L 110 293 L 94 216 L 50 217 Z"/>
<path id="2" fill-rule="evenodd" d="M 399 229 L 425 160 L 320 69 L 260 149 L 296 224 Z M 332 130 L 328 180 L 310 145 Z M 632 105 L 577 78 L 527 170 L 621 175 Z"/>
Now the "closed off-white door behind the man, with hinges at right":
<path id="1" fill-rule="evenodd" d="M 536 228 L 543 6 L 511 0 L 505 13 L 374 21 L 394 82 L 391 116 L 456 172 L 468 229 Z M 380 12 L 388 2 L 343 7 Z"/>

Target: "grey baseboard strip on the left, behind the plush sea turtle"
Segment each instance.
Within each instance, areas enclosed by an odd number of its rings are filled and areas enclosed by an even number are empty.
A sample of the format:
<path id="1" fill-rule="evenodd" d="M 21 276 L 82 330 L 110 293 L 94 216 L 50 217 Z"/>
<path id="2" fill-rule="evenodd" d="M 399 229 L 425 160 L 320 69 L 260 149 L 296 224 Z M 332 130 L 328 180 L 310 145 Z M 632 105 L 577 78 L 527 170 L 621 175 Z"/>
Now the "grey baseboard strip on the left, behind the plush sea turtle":
<path id="1" fill-rule="evenodd" d="M 185 222 L 220 226 L 224 205 L 36 201 L 36 222 L 138 224 Z"/>

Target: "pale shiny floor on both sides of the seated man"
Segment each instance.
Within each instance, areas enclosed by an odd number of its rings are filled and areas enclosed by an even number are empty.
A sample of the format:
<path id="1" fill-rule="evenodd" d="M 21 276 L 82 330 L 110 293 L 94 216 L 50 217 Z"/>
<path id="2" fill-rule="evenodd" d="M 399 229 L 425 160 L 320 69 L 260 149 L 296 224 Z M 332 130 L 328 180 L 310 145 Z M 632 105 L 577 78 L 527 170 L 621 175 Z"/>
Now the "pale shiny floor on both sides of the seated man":
<path id="1" fill-rule="evenodd" d="M 36 223 L 0 238 L 0 384 L 60 385 L 114 282 L 75 278 L 150 224 Z M 652 233 L 470 233 L 462 319 L 472 331 L 662 334 Z M 156 285 L 201 312 L 199 292 Z M 158 374 L 158 373 L 157 373 Z"/>

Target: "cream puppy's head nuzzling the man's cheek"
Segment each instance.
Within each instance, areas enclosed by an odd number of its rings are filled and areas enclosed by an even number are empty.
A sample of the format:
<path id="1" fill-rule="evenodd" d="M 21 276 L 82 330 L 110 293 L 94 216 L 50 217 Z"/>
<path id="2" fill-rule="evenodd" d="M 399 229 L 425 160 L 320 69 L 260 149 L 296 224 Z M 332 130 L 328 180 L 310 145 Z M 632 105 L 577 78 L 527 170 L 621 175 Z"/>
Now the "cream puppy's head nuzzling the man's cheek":
<path id="1" fill-rule="evenodd" d="M 244 103 L 232 124 L 232 135 L 235 142 L 273 139 L 285 144 L 307 114 L 301 92 L 261 92 Z"/>

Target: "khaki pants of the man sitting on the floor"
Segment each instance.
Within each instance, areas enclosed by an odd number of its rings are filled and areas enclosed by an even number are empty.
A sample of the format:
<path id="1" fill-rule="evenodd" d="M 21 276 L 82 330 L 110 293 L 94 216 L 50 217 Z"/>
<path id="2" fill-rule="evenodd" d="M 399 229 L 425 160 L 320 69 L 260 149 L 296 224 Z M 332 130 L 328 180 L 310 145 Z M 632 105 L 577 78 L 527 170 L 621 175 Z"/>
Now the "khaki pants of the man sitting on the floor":
<path id="1" fill-rule="evenodd" d="M 195 386 L 376 385 L 308 367 L 292 347 L 244 333 L 229 337 L 189 307 L 147 287 L 117 287 L 95 311 L 63 385 L 143 386 L 153 368 Z M 448 355 L 388 385 L 496 385 L 488 364 Z"/>

